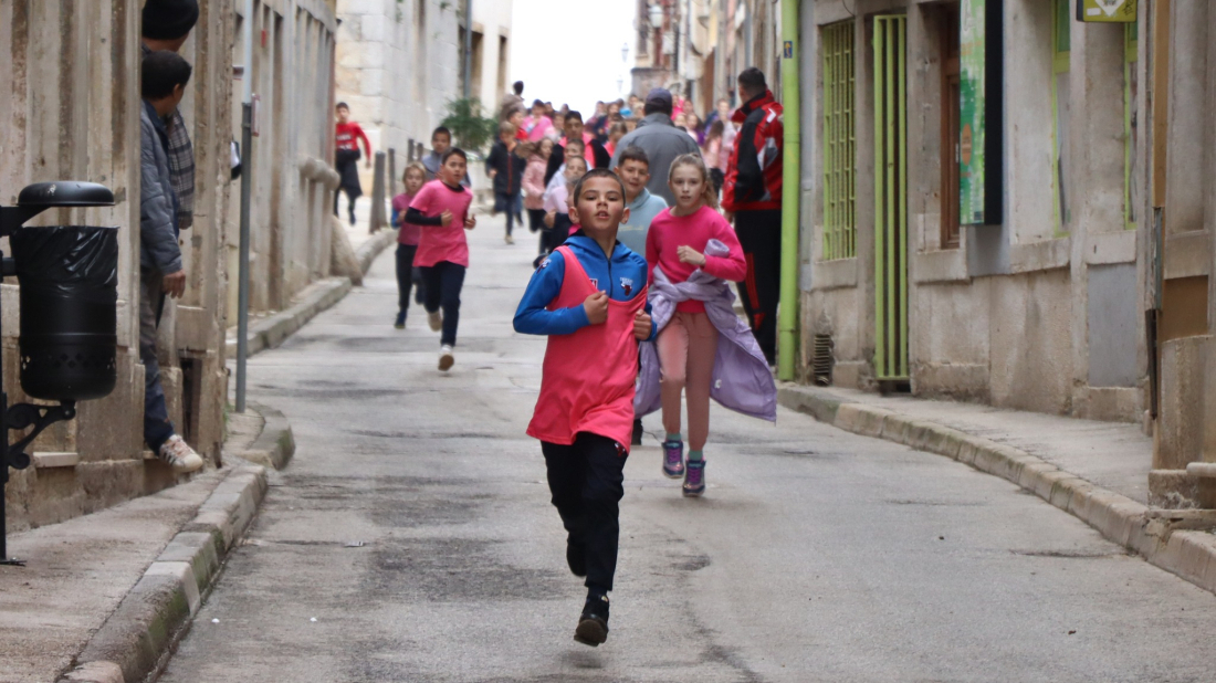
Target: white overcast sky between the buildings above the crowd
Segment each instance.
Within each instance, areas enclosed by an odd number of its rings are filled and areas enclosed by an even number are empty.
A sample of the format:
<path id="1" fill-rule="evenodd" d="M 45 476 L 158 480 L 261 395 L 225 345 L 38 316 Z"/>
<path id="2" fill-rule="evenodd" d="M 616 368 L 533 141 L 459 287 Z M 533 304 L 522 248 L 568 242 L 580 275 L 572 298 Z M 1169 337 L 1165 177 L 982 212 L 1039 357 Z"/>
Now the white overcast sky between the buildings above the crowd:
<path id="1" fill-rule="evenodd" d="M 589 118 L 597 100 L 623 95 L 618 79 L 630 88 L 636 7 L 636 0 L 514 0 L 507 83 L 524 81 L 528 105 L 565 102 Z M 627 64 L 620 55 L 625 44 Z"/>

